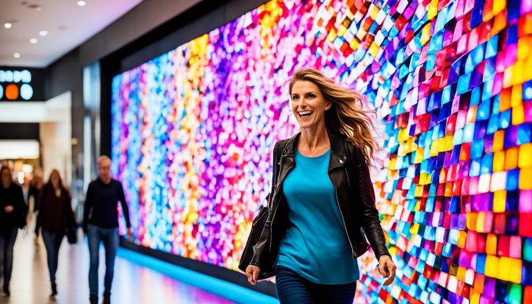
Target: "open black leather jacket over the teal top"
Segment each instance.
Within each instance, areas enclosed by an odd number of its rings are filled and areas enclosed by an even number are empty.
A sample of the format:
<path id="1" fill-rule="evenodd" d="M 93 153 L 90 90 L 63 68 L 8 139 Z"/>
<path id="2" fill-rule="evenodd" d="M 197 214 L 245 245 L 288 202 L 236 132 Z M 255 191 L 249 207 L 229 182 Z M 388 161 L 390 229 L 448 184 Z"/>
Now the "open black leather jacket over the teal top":
<path id="1" fill-rule="evenodd" d="M 274 147 L 274 175 L 268 199 L 268 217 L 250 262 L 250 265 L 260 267 L 261 273 L 275 269 L 279 244 L 286 232 L 288 206 L 283 195 L 283 181 L 296 165 L 295 147 L 300 134 L 278 141 Z M 328 135 L 331 147 L 328 173 L 335 186 L 353 258 L 367 251 L 369 245 L 366 235 L 377 258 L 383 254 L 390 256 L 375 208 L 375 193 L 364 155 L 348 139 L 329 131 Z"/>

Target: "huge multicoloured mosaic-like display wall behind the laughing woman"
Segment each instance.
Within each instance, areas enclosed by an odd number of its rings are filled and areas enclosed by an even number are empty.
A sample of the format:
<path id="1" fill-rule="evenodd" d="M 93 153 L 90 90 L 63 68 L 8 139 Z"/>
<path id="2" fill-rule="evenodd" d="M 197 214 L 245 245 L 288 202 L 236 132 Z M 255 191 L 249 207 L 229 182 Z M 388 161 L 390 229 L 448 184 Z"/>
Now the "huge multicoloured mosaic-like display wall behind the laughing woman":
<path id="1" fill-rule="evenodd" d="M 312 66 L 364 93 L 396 283 L 357 301 L 532 303 L 532 1 L 271 1 L 112 83 L 138 244 L 236 269 Z"/>

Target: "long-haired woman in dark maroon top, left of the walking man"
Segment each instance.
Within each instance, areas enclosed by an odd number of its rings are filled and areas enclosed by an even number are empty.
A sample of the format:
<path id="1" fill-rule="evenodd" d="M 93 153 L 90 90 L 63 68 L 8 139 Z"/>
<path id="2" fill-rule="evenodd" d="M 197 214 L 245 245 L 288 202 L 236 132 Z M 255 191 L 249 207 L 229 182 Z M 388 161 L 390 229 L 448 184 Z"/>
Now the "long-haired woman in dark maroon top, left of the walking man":
<path id="1" fill-rule="evenodd" d="M 65 233 L 74 226 L 71 196 L 69 190 L 63 186 L 57 170 L 51 172 L 48 183 L 42 190 L 40 202 L 35 234 L 38 235 L 39 228 L 42 228 L 42 239 L 46 247 L 46 256 L 48 256 L 48 271 L 52 285 L 51 296 L 55 296 L 57 294 L 55 272 L 57 272 L 59 248 Z"/>

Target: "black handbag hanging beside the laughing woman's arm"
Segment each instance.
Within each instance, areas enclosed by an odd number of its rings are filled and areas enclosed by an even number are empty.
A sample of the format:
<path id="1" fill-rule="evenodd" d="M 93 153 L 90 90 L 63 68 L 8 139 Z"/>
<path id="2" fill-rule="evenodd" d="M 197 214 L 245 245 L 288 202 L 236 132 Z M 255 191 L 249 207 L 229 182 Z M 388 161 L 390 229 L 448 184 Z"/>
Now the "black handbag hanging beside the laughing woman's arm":
<path id="1" fill-rule="evenodd" d="M 266 200 L 268 199 L 269 199 L 269 195 L 266 197 Z M 249 237 L 247 238 L 244 251 L 242 251 L 242 256 L 240 257 L 240 263 L 238 264 L 238 269 L 240 269 L 243 272 L 246 272 L 246 268 L 249 266 L 251 259 L 253 259 L 253 256 L 254 256 L 253 247 L 255 246 L 255 244 L 257 244 L 258 240 L 260 239 L 260 235 L 263 234 L 263 230 L 264 230 L 267 218 L 268 218 L 268 207 L 260 206 L 260 209 L 258 210 L 258 214 L 254 218 L 253 224 L 251 225 L 251 232 L 249 233 Z M 275 268 L 275 265 L 268 265 L 268 263 L 263 263 L 262 265 L 260 265 L 260 274 L 258 275 L 258 280 L 263 280 L 265 278 L 275 276 L 274 268 Z"/>

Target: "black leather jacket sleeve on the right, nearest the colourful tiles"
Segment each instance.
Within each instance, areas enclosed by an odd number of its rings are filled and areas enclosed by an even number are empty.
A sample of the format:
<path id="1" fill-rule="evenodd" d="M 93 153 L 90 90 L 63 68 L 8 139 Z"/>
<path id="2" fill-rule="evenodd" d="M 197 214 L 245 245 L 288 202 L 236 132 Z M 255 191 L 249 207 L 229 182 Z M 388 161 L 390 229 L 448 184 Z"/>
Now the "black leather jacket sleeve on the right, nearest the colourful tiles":
<path id="1" fill-rule="evenodd" d="M 384 232 L 380 226 L 379 212 L 375 207 L 375 192 L 369 174 L 369 166 L 366 163 L 364 154 L 358 147 L 353 148 L 353 158 L 355 177 L 357 178 L 357 183 L 355 184 L 360 195 L 362 229 L 366 233 L 376 258 L 380 258 L 383 254 L 391 257 L 386 247 Z"/>

